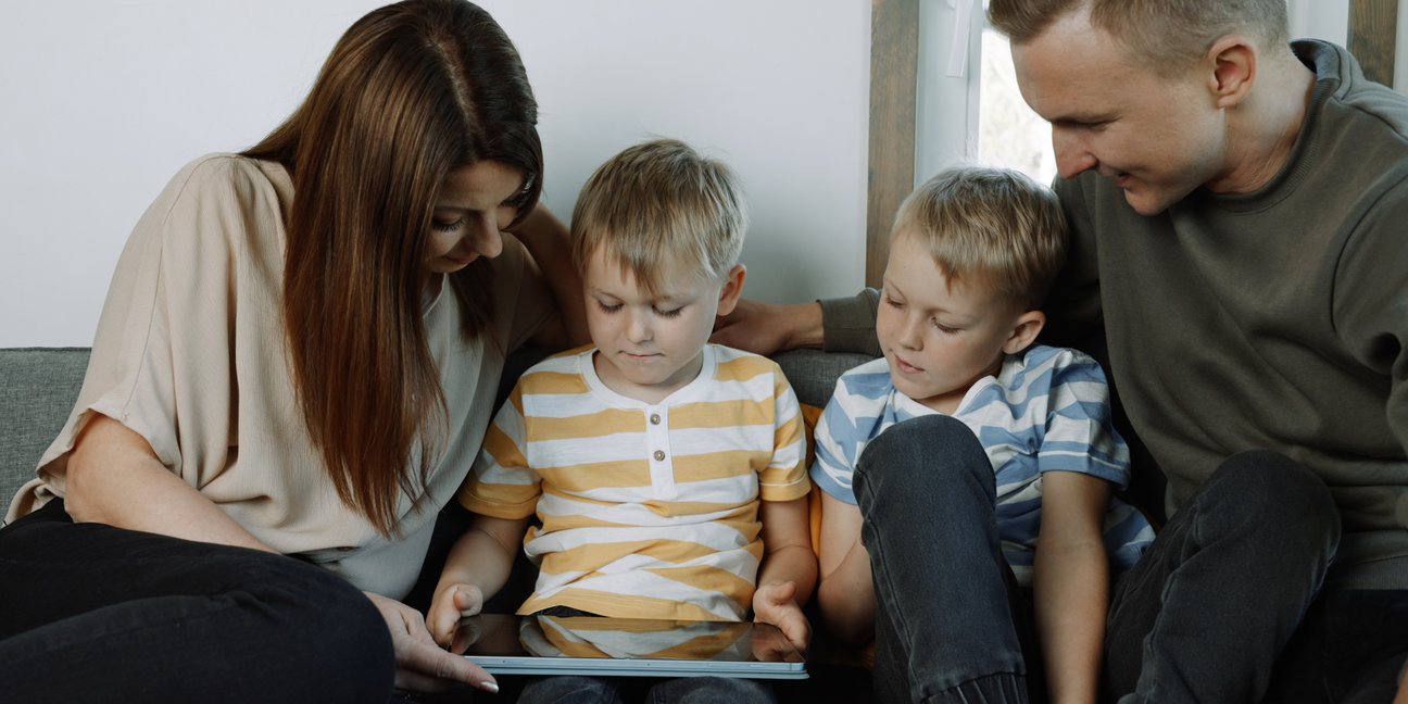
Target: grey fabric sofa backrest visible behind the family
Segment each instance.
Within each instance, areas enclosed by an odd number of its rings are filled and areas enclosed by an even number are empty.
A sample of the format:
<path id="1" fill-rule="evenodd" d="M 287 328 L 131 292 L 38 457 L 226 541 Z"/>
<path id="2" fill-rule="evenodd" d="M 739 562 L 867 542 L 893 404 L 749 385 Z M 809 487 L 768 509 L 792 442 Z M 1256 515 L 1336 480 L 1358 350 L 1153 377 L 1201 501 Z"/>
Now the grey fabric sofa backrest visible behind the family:
<path id="1" fill-rule="evenodd" d="M 39 455 L 63 428 L 87 359 L 87 348 L 0 348 L 0 507 L 8 507 L 10 497 L 34 476 Z M 818 407 L 831 398 L 836 377 L 866 359 L 814 349 L 777 356 L 797 397 Z"/>

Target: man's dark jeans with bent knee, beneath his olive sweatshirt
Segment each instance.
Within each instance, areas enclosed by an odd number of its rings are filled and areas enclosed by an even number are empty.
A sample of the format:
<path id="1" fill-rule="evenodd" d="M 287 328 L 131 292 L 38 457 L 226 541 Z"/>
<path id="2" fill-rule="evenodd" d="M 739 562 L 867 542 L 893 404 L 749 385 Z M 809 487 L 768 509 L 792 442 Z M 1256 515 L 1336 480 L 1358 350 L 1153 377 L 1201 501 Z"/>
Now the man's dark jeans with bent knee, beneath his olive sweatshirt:
<path id="1" fill-rule="evenodd" d="M 1105 690 L 1122 704 L 1387 703 L 1408 591 L 1321 589 L 1340 522 L 1325 484 L 1232 456 L 1117 584 Z"/>

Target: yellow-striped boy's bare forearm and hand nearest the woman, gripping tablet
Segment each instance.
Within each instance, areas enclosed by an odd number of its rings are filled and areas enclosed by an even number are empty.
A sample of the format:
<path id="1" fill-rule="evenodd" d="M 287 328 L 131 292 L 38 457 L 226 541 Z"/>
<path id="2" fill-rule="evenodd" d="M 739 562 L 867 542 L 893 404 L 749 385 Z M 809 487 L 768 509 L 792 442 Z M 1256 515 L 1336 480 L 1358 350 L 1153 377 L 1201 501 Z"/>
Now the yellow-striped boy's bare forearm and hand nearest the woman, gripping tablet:
<path id="1" fill-rule="evenodd" d="M 459 620 L 477 614 L 484 607 L 484 600 L 508 582 L 527 529 L 528 518 L 474 514 L 469 529 L 455 541 L 445 558 L 445 569 L 435 584 L 427 622 L 438 643 L 449 646 Z"/>

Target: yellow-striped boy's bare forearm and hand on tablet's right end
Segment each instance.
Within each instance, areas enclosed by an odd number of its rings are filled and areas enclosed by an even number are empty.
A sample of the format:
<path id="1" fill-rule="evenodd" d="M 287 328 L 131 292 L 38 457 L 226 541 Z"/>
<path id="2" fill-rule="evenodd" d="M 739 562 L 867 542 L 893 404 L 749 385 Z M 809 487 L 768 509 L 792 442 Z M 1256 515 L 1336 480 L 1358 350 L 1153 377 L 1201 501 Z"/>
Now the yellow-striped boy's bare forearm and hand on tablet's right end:
<path id="1" fill-rule="evenodd" d="M 811 624 L 801 604 L 817 584 L 817 556 L 811 552 L 807 497 L 759 501 L 763 524 L 763 565 L 753 591 L 753 618 L 777 627 L 800 652 L 807 652 Z"/>

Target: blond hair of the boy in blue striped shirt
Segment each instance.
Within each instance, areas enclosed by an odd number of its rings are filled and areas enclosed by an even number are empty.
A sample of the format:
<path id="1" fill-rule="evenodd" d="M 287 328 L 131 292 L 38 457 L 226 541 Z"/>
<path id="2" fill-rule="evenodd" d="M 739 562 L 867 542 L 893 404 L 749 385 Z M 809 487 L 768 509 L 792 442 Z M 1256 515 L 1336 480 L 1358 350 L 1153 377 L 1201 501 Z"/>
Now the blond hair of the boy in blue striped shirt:
<path id="1" fill-rule="evenodd" d="M 955 166 L 915 189 L 895 215 L 891 238 L 925 244 L 949 283 L 988 286 L 1035 310 L 1066 262 L 1066 217 L 1056 194 L 1028 176 Z"/>

